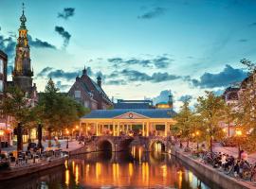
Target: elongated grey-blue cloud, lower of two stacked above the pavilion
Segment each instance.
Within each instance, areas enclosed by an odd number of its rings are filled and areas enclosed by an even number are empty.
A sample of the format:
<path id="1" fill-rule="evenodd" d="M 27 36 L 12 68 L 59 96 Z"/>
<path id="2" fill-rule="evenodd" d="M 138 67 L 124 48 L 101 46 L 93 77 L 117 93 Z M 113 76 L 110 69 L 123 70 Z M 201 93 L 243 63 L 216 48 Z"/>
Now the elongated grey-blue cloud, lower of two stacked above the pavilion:
<path id="1" fill-rule="evenodd" d="M 165 73 L 156 72 L 152 76 L 149 76 L 146 73 L 142 73 L 137 70 L 129 70 L 129 69 L 124 69 L 119 74 L 121 74 L 124 77 L 127 77 L 128 80 L 130 81 L 150 81 L 154 83 L 180 78 L 179 76 L 170 75 L 167 72 Z"/>

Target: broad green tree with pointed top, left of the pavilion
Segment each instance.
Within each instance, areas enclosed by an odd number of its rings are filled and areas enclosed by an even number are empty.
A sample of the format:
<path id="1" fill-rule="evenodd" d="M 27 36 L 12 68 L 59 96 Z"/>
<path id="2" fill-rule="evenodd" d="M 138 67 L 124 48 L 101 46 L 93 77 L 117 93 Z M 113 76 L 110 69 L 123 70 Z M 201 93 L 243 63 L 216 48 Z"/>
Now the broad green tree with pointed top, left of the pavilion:
<path id="1" fill-rule="evenodd" d="M 48 146 L 51 146 L 51 133 L 63 129 L 70 129 L 86 110 L 74 99 L 64 94 L 58 93 L 50 78 L 46 85 L 44 94 L 39 98 L 39 110 L 41 120 L 48 132 Z"/>

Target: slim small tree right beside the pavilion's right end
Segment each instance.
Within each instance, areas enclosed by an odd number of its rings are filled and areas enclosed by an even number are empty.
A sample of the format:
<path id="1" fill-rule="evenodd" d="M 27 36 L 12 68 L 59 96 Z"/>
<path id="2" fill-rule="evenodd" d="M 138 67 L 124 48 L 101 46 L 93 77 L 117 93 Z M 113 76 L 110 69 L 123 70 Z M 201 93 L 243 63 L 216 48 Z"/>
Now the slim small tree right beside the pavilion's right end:
<path id="1" fill-rule="evenodd" d="M 190 99 L 186 99 L 181 106 L 180 112 L 174 117 L 176 124 L 173 131 L 178 131 L 181 139 L 187 141 L 189 147 L 190 139 L 192 137 L 192 111 L 190 109 Z"/>

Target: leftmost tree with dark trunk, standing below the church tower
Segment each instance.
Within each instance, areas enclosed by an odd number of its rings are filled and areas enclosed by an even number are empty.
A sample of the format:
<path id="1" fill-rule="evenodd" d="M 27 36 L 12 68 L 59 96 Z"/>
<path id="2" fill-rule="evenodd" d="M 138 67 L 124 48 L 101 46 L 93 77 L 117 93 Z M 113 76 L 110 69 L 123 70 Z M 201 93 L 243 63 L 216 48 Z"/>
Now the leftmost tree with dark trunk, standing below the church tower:
<path id="1" fill-rule="evenodd" d="M 14 118 L 14 125 L 17 126 L 17 150 L 23 150 L 23 129 L 30 121 L 31 114 L 27 104 L 25 93 L 17 86 L 11 86 L 7 89 L 7 94 L 0 105 L 4 114 Z"/>

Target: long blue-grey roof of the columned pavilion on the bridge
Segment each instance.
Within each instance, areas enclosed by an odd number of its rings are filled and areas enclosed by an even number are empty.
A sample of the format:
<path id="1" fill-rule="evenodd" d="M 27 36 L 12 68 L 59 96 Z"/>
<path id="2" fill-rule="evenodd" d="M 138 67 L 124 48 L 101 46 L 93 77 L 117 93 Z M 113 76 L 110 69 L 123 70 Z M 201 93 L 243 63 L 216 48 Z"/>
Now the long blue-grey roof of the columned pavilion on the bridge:
<path id="1" fill-rule="evenodd" d="M 171 109 L 114 109 L 114 110 L 95 110 L 82 116 L 87 119 L 114 118 L 127 112 L 135 112 L 150 118 L 173 118 L 176 112 Z"/>

